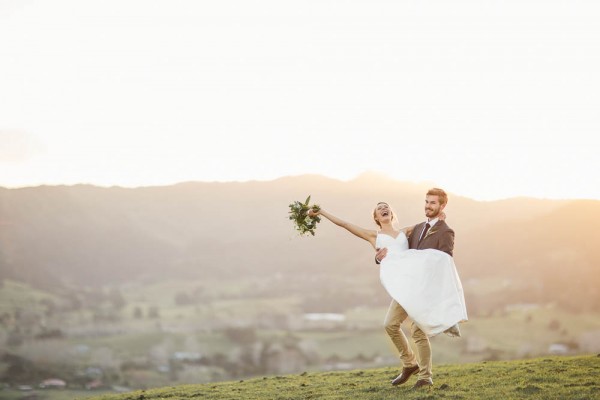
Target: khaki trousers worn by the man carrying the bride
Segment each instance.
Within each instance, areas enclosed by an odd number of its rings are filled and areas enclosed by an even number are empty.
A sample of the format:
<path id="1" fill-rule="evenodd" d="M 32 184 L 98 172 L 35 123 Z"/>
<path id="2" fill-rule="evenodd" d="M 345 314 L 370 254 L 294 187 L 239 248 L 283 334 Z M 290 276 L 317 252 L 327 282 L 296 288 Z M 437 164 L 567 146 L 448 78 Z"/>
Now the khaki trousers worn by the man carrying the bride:
<path id="1" fill-rule="evenodd" d="M 413 322 L 410 326 L 410 332 L 417 347 L 417 357 L 413 353 L 406 335 L 400 329 L 402 322 L 408 317 L 404 308 L 396 300 L 392 300 L 387 315 L 385 316 L 385 330 L 392 339 L 392 342 L 400 353 L 403 367 L 412 367 L 419 365 L 419 379 L 431 380 L 431 345 L 427 335 Z"/>

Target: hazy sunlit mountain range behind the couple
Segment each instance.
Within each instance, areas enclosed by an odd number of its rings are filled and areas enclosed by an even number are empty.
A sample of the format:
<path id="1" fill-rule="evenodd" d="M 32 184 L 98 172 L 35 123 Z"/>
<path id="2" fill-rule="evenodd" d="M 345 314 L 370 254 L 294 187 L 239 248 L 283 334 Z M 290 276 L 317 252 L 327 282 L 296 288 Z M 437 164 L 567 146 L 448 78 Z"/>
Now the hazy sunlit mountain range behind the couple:
<path id="1" fill-rule="evenodd" d="M 314 237 L 300 237 L 288 205 L 311 195 L 332 214 L 375 229 L 373 208 L 386 201 L 399 226 L 408 226 L 424 220 L 430 186 L 366 173 L 350 181 L 302 175 L 140 188 L 0 188 L 0 278 L 45 288 L 274 274 L 373 284 L 377 267 L 368 243 L 329 221 Z M 600 201 L 476 201 L 449 192 L 445 211 L 456 232 L 455 261 L 473 296 L 599 307 Z"/>

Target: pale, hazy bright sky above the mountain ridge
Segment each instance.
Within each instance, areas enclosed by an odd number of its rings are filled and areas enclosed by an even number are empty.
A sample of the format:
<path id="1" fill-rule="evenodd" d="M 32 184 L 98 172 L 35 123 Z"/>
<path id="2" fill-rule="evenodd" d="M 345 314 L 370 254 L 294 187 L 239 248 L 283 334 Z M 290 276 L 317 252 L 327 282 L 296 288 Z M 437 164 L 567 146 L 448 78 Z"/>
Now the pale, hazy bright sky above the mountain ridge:
<path id="1" fill-rule="evenodd" d="M 0 186 L 600 199 L 594 0 L 0 0 Z"/>

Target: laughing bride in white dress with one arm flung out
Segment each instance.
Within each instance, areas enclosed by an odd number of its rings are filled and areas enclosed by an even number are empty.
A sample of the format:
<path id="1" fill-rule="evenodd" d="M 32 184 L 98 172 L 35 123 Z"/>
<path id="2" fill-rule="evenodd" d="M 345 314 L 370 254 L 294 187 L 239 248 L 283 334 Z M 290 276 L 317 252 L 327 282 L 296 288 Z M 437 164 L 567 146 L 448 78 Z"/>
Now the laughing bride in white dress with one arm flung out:
<path id="1" fill-rule="evenodd" d="M 414 227 L 396 229 L 394 213 L 387 203 L 378 203 L 373 210 L 379 230 L 361 228 L 323 209 L 311 210 L 308 215 L 327 218 L 376 250 L 387 248 L 381 260 L 380 280 L 390 296 L 427 336 L 441 332 L 460 336 L 457 324 L 467 320 L 467 311 L 453 258 L 436 249 L 409 249 L 408 238 Z M 444 219 L 442 212 L 440 220 Z"/>

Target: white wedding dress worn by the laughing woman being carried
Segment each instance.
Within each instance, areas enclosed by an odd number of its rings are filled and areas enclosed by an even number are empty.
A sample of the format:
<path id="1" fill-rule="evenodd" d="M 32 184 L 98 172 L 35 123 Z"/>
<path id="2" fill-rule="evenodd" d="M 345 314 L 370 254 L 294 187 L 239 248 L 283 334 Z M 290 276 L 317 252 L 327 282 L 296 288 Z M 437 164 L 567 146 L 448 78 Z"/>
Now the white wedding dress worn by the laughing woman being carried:
<path id="1" fill-rule="evenodd" d="M 463 288 L 451 256 L 435 249 L 409 249 L 403 232 L 396 238 L 379 233 L 375 243 L 388 249 L 380 266 L 382 285 L 426 335 L 467 321 Z"/>

